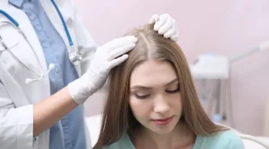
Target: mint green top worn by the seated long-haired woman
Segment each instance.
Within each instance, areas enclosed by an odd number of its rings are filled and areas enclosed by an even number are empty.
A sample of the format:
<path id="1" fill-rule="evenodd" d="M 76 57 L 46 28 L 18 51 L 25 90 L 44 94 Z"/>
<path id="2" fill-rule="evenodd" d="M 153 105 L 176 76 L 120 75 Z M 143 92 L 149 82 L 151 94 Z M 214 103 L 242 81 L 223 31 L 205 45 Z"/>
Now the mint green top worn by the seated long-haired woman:
<path id="1" fill-rule="evenodd" d="M 102 149 L 135 149 L 130 137 L 125 133 L 116 143 Z M 211 136 L 197 136 L 193 149 L 244 149 L 240 137 L 230 130 L 220 131 Z"/>

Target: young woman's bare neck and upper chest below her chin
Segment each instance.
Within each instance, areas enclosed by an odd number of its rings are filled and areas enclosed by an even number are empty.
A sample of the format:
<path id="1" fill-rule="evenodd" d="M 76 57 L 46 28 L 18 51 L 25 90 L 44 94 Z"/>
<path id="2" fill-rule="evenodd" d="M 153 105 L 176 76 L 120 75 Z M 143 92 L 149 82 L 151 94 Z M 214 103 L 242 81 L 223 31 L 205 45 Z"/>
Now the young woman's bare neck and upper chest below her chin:
<path id="1" fill-rule="evenodd" d="M 181 148 L 193 146 L 195 135 L 186 125 L 178 125 L 169 133 L 157 134 L 148 128 L 138 129 L 133 137 L 136 148 Z"/>

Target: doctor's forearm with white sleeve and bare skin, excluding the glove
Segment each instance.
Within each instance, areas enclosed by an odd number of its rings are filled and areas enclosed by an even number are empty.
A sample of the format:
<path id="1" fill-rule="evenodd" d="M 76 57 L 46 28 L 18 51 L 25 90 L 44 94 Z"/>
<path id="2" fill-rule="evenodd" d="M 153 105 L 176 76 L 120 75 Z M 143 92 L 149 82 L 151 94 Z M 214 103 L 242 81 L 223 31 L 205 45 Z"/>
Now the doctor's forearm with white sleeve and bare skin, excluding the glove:
<path id="1" fill-rule="evenodd" d="M 0 148 L 31 149 L 34 137 L 74 110 L 67 87 L 39 103 L 15 107 L 0 82 Z"/>

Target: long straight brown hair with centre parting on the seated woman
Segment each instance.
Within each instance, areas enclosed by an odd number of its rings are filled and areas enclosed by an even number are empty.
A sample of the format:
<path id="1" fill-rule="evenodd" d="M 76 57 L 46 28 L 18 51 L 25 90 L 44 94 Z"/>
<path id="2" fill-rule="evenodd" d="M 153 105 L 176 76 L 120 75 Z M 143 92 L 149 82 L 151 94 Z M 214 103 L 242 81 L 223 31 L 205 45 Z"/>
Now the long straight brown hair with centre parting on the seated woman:
<path id="1" fill-rule="evenodd" d="M 183 104 L 180 120 L 187 124 L 195 135 L 210 135 L 224 129 L 208 118 L 196 95 L 195 86 L 187 60 L 176 42 L 166 39 L 153 30 L 153 25 L 134 29 L 128 35 L 138 38 L 126 62 L 110 71 L 107 103 L 104 107 L 100 137 L 94 149 L 117 142 L 123 133 L 132 131 L 141 124 L 134 118 L 129 106 L 130 76 L 134 68 L 147 60 L 168 61 L 178 75 Z"/>

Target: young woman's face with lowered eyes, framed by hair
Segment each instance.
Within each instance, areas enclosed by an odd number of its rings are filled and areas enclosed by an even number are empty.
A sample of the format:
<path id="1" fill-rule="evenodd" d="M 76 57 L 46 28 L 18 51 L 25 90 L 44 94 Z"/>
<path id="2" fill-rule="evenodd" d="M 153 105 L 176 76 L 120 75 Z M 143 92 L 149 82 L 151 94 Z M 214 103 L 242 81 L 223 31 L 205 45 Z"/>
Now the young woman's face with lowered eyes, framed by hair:
<path id="1" fill-rule="evenodd" d="M 146 61 L 131 74 L 130 106 L 144 128 L 169 133 L 181 117 L 178 76 L 169 62 Z"/>

